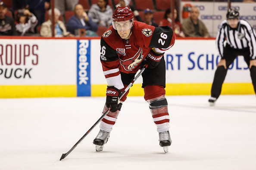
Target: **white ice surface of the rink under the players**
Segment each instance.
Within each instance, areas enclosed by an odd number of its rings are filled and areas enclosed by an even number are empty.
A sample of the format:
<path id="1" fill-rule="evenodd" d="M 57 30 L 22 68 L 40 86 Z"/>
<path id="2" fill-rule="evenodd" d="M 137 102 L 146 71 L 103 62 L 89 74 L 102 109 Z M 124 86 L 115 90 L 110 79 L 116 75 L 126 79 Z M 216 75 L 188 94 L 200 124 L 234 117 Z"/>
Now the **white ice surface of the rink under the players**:
<path id="1" fill-rule="evenodd" d="M 147 102 L 128 97 L 103 152 L 92 141 L 105 97 L 0 99 L 0 170 L 256 170 L 256 97 L 168 96 L 164 154 Z"/>

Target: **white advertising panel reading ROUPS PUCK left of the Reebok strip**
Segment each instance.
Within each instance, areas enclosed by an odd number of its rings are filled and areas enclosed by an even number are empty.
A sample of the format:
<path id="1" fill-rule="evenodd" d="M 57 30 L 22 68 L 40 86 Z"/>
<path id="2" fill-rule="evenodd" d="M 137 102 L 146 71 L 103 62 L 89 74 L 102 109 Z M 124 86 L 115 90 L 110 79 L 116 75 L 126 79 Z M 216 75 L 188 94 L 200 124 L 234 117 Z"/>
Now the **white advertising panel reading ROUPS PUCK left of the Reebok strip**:
<path id="1" fill-rule="evenodd" d="M 75 85 L 75 39 L 0 39 L 1 85 Z"/>

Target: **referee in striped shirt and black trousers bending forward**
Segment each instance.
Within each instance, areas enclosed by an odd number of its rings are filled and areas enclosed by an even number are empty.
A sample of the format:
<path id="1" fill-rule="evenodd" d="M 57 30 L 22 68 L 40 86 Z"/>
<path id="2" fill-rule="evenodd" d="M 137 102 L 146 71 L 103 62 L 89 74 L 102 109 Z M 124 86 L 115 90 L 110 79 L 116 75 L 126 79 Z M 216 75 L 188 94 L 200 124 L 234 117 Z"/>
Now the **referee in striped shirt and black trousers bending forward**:
<path id="1" fill-rule="evenodd" d="M 224 44 L 225 40 L 226 45 Z M 238 55 L 244 56 L 244 60 L 250 68 L 250 75 L 256 92 L 256 33 L 247 21 L 239 20 L 237 9 L 228 9 L 227 19 L 222 21 L 216 37 L 216 45 L 221 60 L 217 65 L 212 83 L 211 97 L 208 100 L 210 106 L 214 106 L 218 99 L 228 67 Z"/>

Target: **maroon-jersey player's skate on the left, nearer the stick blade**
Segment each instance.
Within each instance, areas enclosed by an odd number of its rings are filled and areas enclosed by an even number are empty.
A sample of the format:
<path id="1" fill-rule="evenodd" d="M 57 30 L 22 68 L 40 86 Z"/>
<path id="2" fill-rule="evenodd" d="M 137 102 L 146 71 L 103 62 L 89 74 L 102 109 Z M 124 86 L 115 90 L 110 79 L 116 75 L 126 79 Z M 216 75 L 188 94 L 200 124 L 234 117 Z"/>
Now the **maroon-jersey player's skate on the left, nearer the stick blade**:
<path id="1" fill-rule="evenodd" d="M 94 139 L 94 145 L 96 146 L 96 152 L 103 150 L 104 144 L 107 143 L 109 139 L 110 132 L 100 130 L 97 137 Z"/>

